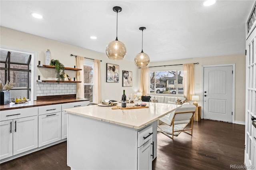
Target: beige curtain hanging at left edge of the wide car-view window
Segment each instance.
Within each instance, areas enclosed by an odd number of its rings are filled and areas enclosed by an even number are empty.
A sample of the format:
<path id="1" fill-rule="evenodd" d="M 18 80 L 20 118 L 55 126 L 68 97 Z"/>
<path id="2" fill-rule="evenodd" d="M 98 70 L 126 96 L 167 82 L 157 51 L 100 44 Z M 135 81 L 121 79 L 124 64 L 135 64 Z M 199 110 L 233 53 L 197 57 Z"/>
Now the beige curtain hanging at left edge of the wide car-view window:
<path id="1" fill-rule="evenodd" d="M 149 71 L 148 67 L 141 68 L 140 72 L 140 92 L 142 92 L 142 96 L 148 95 L 149 89 Z"/>

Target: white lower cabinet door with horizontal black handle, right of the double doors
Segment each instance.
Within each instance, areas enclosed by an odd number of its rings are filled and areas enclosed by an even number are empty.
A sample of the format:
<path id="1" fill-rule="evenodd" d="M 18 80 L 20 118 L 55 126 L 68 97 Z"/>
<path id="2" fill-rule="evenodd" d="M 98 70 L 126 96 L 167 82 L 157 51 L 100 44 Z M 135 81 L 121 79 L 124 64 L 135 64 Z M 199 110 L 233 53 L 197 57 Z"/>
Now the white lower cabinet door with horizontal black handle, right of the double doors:
<path id="1" fill-rule="evenodd" d="M 38 147 L 61 139 L 61 112 L 38 116 Z"/>

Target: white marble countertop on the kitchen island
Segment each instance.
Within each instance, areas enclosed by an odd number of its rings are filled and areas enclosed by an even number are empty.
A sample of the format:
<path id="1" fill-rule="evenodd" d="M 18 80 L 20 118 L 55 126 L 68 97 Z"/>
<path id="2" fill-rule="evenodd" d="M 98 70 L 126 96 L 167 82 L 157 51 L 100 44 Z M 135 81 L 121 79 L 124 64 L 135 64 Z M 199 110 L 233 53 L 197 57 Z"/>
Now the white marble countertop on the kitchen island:
<path id="1" fill-rule="evenodd" d="M 138 102 L 136 102 L 138 103 Z M 149 108 L 139 109 L 112 109 L 116 106 L 84 106 L 78 108 L 64 109 L 65 112 L 92 118 L 112 124 L 118 124 L 134 129 L 140 129 L 162 116 L 180 108 L 182 105 L 146 102 Z M 129 104 L 127 104 L 128 106 Z M 132 105 L 132 104 L 131 104 Z M 120 106 L 120 104 L 118 104 Z"/>

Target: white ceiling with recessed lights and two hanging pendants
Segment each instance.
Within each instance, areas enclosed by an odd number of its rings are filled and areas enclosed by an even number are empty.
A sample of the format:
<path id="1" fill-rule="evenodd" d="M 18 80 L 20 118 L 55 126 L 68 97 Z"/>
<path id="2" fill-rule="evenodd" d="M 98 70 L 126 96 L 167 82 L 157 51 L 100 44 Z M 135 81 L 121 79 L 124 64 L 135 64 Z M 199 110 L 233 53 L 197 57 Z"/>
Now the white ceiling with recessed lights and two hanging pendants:
<path id="1" fill-rule="evenodd" d="M 252 0 L 219 0 L 202 6 L 195 0 L 0 1 L 0 25 L 105 53 L 116 38 L 127 48 L 125 60 L 143 51 L 150 61 L 241 54 Z M 42 19 L 30 13 L 38 12 Z M 97 36 L 96 40 L 90 36 Z M 50 47 L 49 47 L 50 48 Z M 82 55 L 82 54 L 79 54 Z"/>

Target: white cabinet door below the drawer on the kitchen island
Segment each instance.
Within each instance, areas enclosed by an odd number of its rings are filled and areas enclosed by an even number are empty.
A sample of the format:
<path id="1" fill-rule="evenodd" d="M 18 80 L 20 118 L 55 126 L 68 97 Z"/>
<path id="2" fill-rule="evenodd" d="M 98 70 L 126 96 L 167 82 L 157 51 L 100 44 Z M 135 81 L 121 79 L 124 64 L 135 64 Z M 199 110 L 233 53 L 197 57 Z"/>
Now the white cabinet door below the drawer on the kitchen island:
<path id="1" fill-rule="evenodd" d="M 138 148 L 138 170 L 152 170 L 152 139 Z"/>

